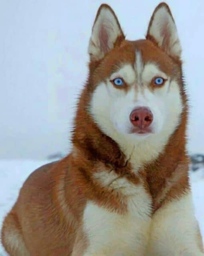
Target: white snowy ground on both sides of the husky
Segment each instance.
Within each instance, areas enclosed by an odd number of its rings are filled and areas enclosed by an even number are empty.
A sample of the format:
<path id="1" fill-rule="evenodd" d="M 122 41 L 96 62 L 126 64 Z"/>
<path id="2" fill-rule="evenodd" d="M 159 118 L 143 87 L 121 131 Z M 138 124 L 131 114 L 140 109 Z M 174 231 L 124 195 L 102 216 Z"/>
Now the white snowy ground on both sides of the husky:
<path id="1" fill-rule="evenodd" d="M 48 161 L 0 160 L 0 225 L 5 214 L 14 204 L 24 180 L 34 169 L 45 163 L 48 163 Z M 190 177 L 196 216 L 204 238 L 204 169 L 191 173 Z M 0 246 L 0 256 L 6 255 Z"/>

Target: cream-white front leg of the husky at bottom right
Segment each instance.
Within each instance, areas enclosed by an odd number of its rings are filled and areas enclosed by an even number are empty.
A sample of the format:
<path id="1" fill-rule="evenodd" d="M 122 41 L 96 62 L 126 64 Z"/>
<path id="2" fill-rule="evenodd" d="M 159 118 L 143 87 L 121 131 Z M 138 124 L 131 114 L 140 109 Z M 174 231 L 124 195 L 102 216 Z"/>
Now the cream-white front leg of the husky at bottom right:
<path id="1" fill-rule="evenodd" d="M 198 229 L 192 196 L 162 206 L 152 217 L 147 256 L 204 256 L 198 248 Z"/>

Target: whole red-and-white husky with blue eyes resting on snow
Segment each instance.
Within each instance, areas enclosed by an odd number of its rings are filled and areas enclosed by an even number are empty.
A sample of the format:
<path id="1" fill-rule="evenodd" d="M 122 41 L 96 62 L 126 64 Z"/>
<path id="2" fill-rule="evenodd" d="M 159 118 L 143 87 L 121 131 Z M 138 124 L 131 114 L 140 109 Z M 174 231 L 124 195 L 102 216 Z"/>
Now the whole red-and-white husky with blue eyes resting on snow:
<path id="1" fill-rule="evenodd" d="M 204 256 L 181 50 L 167 4 L 136 41 L 100 6 L 72 150 L 25 181 L 2 227 L 11 256 Z"/>

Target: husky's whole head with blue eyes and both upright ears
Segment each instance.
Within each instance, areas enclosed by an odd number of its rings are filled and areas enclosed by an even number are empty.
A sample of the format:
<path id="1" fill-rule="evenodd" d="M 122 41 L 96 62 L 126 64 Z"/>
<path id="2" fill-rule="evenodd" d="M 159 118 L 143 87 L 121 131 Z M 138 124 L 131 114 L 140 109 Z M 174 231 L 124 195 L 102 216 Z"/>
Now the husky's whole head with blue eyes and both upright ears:
<path id="1" fill-rule="evenodd" d="M 98 62 L 90 113 L 113 139 L 170 136 L 180 120 L 181 47 L 166 4 L 154 11 L 146 38 L 125 40 L 114 12 L 100 7 L 89 46 L 91 61 Z"/>

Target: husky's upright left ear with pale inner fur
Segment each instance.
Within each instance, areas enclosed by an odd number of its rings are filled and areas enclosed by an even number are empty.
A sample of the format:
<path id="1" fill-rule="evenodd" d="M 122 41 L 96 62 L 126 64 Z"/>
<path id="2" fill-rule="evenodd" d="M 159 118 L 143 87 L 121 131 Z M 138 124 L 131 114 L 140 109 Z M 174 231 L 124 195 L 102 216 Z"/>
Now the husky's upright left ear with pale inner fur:
<path id="1" fill-rule="evenodd" d="M 88 53 L 91 60 L 100 60 L 104 55 L 124 40 L 124 34 L 114 11 L 102 4 L 96 14 L 89 42 Z"/>

